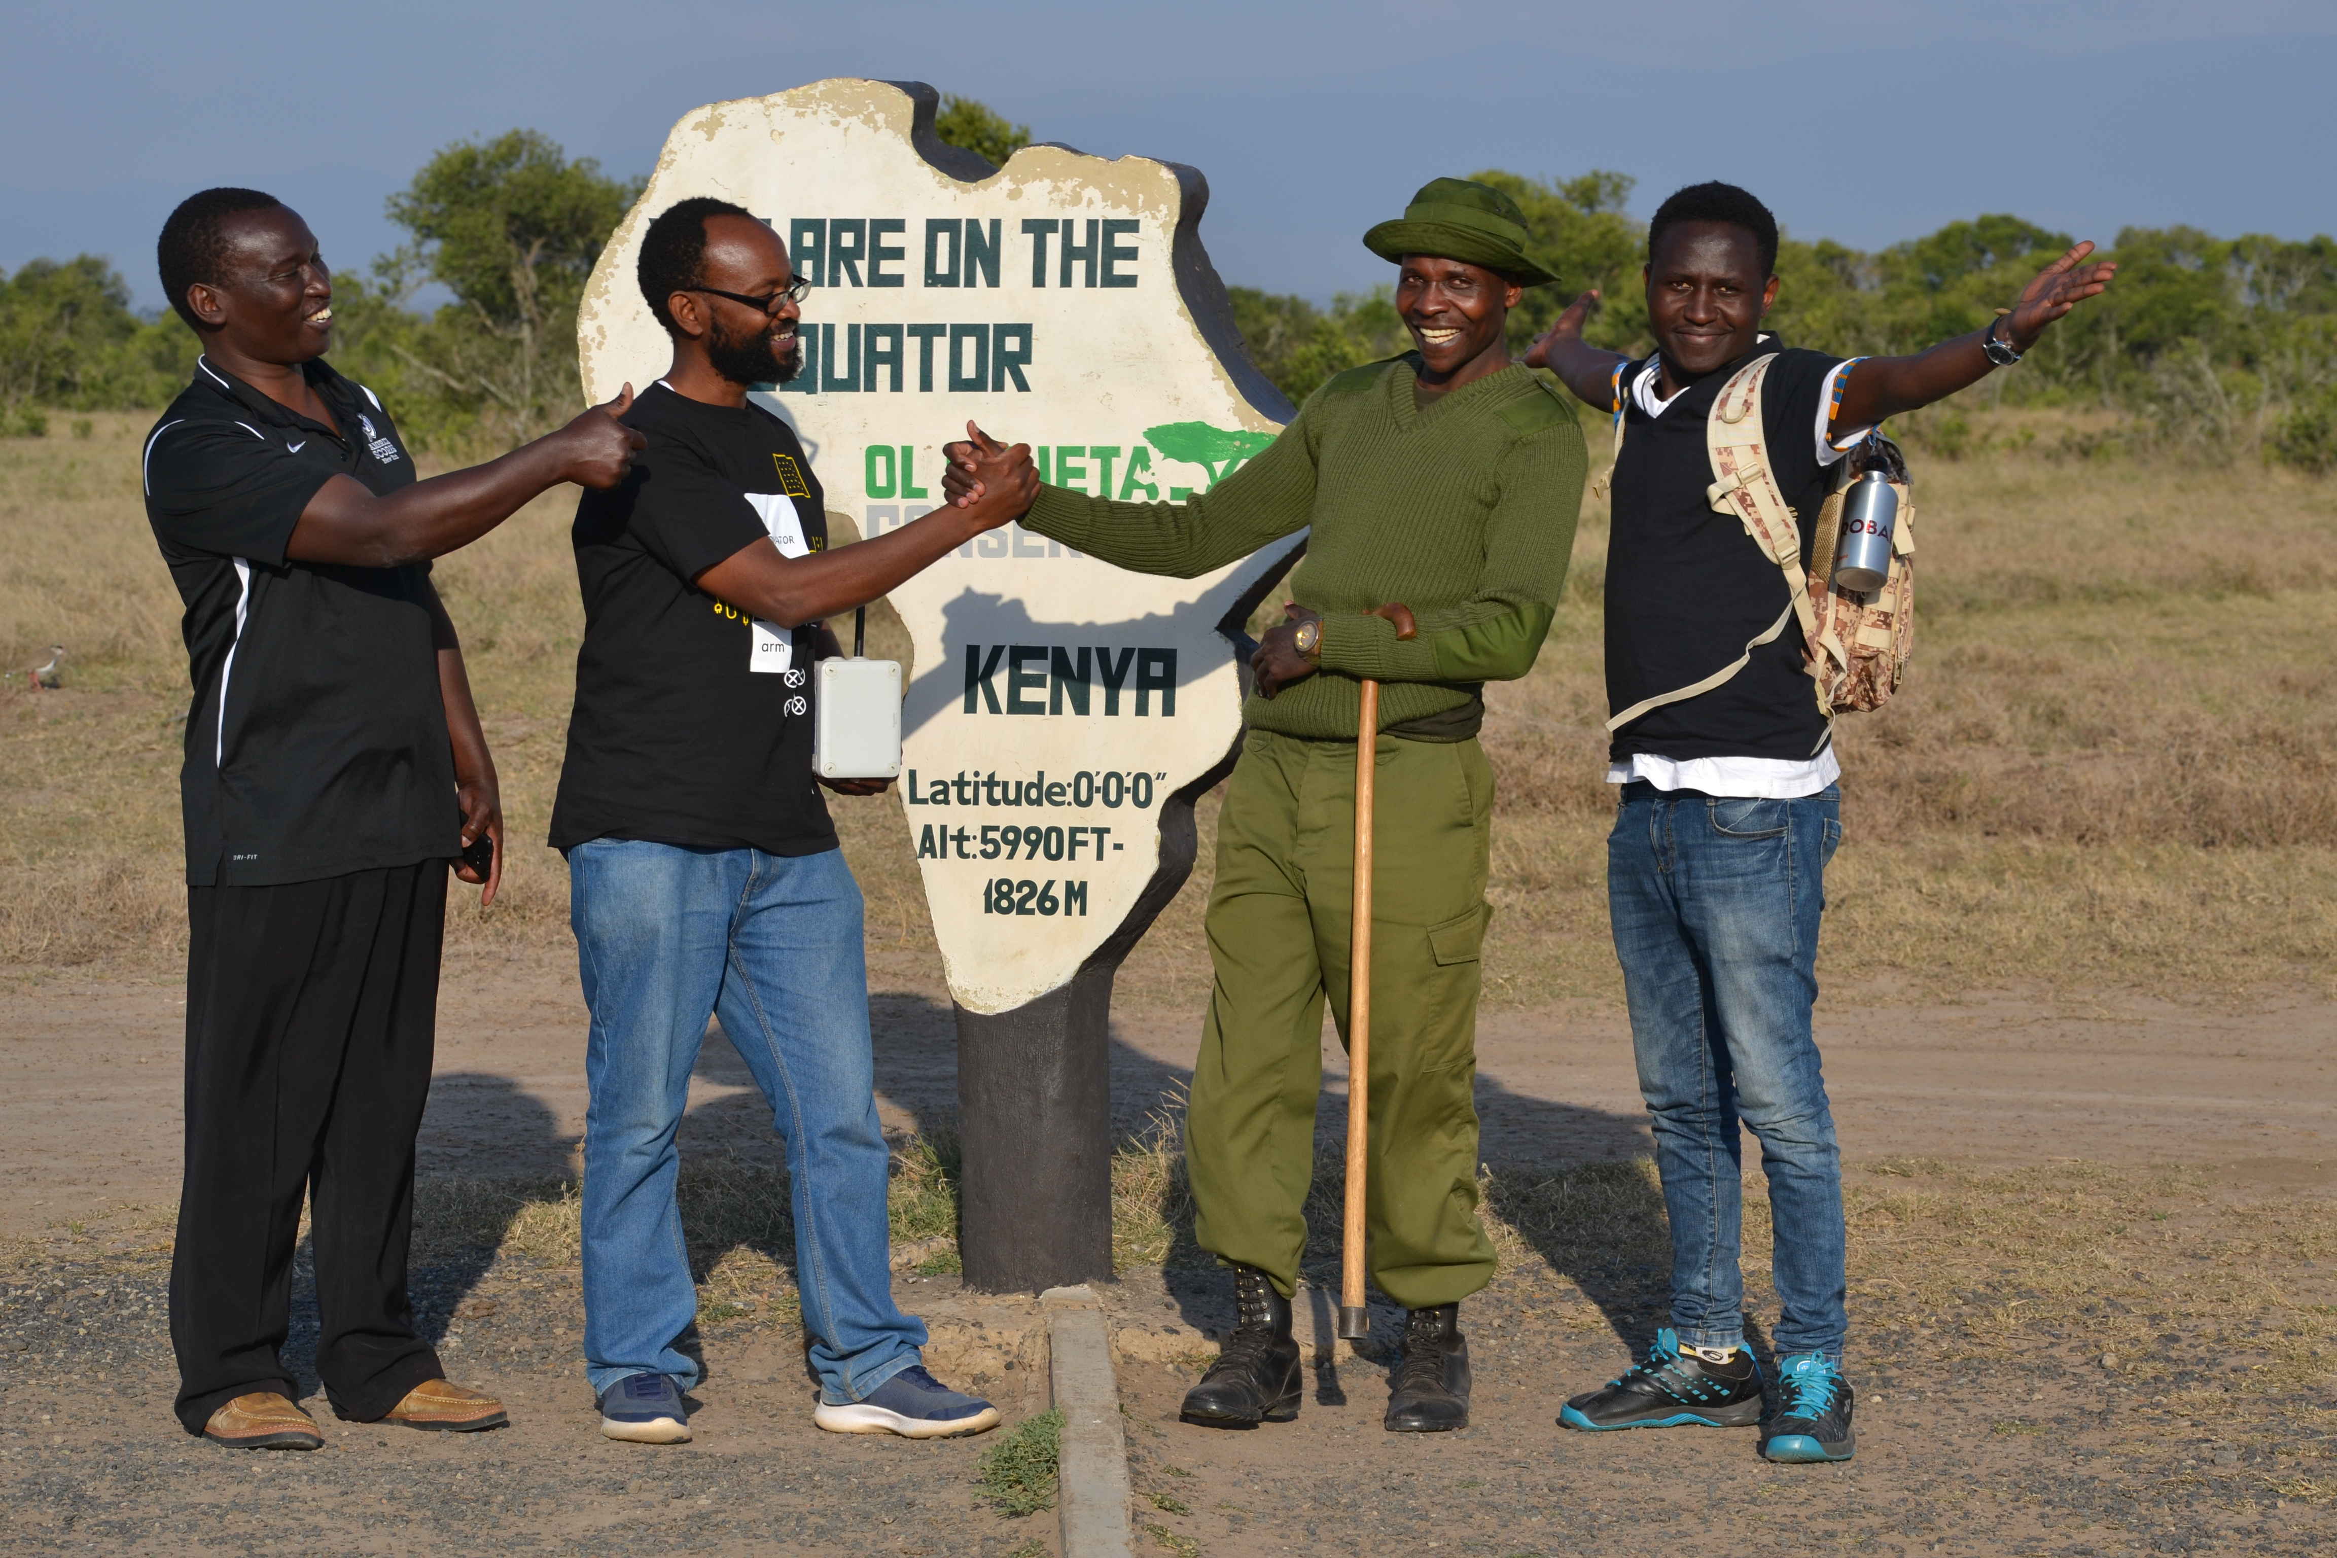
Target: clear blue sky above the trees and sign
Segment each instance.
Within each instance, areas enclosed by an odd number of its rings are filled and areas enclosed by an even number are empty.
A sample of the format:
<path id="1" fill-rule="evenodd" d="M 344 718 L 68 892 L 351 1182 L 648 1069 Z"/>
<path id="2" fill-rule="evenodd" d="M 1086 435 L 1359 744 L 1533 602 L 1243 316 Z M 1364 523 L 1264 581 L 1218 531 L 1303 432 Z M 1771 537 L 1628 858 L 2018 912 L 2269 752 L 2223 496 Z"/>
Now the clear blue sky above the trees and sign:
<path id="1" fill-rule="evenodd" d="M 2103 241 L 2337 229 L 2325 0 L 33 0 L 0 23 L 0 266 L 110 255 L 154 306 L 161 217 L 234 182 L 346 269 L 397 241 L 383 199 L 451 140 L 530 126 L 643 173 L 689 107 L 827 75 L 1192 164 L 1220 273 L 1316 299 L 1384 280 L 1362 229 L 1484 166 L 1617 168 L 1638 215 L 1729 178 L 1863 248 L 1982 210 Z"/>

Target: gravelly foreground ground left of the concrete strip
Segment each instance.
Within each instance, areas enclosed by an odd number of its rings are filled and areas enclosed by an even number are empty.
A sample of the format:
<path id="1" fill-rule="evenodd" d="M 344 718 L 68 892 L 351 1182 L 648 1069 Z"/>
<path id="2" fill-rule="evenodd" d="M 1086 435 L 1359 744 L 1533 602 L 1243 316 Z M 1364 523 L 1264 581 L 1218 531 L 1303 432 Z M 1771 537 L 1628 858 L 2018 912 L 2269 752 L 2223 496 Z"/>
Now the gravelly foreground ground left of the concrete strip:
<path id="1" fill-rule="evenodd" d="M 0 1275 L 9 1553 L 1054 1551 L 1054 1516 L 1007 1521 L 977 1504 L 986 1439 L 816 1430 L 792 1329 L 708 1336 L 696 1439 L 622 1446 L 601 1439 L 580 1373 L 573 1268 L 430 1266 L 414 1285 L 425 1329 L 444 1327 L 449 1373 L 495 1390 L 512 1427 L 341 1423 L 311 1394 L 325 1448 L 292 1455 L 224 1451 L 178 1430 L 164 1296 L 154 1254 L 42 1259 Z M 306 1273 L 294 1315 L 290 1362 L 313 1392 Z M 1045 1406 L 1028 1394 L 1042 1390 L 1028 1369 L 975 1387 L 1010 1423 Z"/>

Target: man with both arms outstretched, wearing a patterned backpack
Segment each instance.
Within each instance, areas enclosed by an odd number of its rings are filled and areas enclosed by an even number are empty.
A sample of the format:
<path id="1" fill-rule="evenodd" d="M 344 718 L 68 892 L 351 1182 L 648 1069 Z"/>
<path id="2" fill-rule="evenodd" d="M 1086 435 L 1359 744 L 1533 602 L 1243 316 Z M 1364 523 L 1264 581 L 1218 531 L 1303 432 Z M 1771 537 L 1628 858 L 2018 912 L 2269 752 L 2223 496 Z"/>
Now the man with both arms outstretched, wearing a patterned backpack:
<path id="1" fill-rule="evenodd" d="M 1608 783 L 1622 804 L 1608 906 L 1673 1247 L 1671 1324 L 1645 1362 L 1568 1401 L 1568 1427 L 1760 1423 L 1736 1271 L 1743 1121 L 1762 1145 L 1776 1229 L 1778 1413 L 1762 1453 L 1802 1462 L 1856 1448 L 1842 1376 L 1842 1163 L 1811 1039 L 1842 768 L 1785 575 L 1736 509 L 1713 502 L 1706 420 L 1722 385 L 1769 357 L 1755 437 L 1807 572 L 1828 467 L 1886 416 L 2019 362 L 2108 285 L 2110 264 L 2085 264 L 2092 250 L 2061 255 L 1986 329 L 1912 357 L 1844 362 L 1762 332 L 1778 285 L 1776 220 L 1734 185 L 1694 185 L 1648 227 L 1655 355 L 1584 346 L 1587 292 L 1526 357 L 1620 418 L 1606 680 Z"/>

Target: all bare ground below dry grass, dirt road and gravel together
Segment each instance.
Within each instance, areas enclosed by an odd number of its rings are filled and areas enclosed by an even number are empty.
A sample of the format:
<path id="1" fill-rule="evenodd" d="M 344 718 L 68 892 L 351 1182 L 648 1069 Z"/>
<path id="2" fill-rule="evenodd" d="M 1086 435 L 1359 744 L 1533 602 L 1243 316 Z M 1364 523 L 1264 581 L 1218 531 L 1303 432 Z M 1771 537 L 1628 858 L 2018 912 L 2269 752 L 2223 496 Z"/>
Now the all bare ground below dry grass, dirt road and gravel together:
<path id="1" fill-rule="evenodd" d="M 946 1000 L 914 965 L 879 965 L 874 988 L 888 1128 L 944 1124 Z M 0 993 L 0 1236 L 26 1252 L 0 1268 L 0 1490 L 26 1551 L 313 1551 L 320 1532 L 339 1551 L 1054 1551 L 1052 1516 L 1007 1521 L 977 1502 L 984 1444 L 816 1432 L 785 1324 L 708 1322 L 694 1446 L 601 1441 L 577 1380 L 575 1266 L 509 1250 L 416 1271 L 425 1331 L 458 1378 L 505 1394 L 509 1432 L 393 1434 L 327 1416 L 327 1451 L 304 1458 L 185 1439 L 168 1423 L 159 1243 L 178 1175 L 178 1025 L 166 979 Z M 566 960 L 451 965 L 423 1175 L 573 1173 L 582 1032 Z M 1225 1278 L 1124 1273 L 1108 1301 L 1138 1544 L 1180 1558 L 2328 1551 L 2337 1380 L 2316 1359 L 2337 1313 L 2332 1032 L 2337 1011 L 2311 1004 L 1823 1007 L 1856 1180 L 1851 1467 L 1767 1467 L 1750 1434 L 1552 1427 L 1566 1392 L 1620 1369 L 1662 1322 L 1659 1203 L 1643 1182 L 1636 1243 L 1528 1240 L 1470 1301 L 1475 1425 L 1451 1437 L 1379 1432 L 1395 1315 L 1381 1313 L 1374 1357 L 1353 1357 L 1330 1345 L 1330 1294 L 1313 1287 L 1302 1336 L 1320 1364 L 1299 1420 L 1187 1427 L 1176 1404 L 1229 1320 Z M 1194 1042 L 1197 1011 L 1119 1014 L 1124 1126 L 1173 1105 Z M 1325 1070 L 1334 1121 L 1337 1046 Z M 1645 1154 L 1617 1011 L 1491 1011 L 1479 1070 L 1498 1180 Z M 778 1159 L 720 1035 L 685 1152 Z M 2169 1177 L 2166 1163 L 2192 1168 Z M 68 1240 L 75 1222 L 93 1238 Z M 1760 1243 L 1748 1299 L 1771 1313 Z M 1318 1266 L 1311 1280 L 1332 1280 Z M 900 1282 L 928 1315 L 968 1303 L 953 1278 Z M 301 1275 L 290 1359 L 304 1378 L 306 1294 Z M 946 1369 L 1010 1423 L 1045 1406 L 1028 1350 L 986 1348 L 963 1317 L 953 1336 Z"/>

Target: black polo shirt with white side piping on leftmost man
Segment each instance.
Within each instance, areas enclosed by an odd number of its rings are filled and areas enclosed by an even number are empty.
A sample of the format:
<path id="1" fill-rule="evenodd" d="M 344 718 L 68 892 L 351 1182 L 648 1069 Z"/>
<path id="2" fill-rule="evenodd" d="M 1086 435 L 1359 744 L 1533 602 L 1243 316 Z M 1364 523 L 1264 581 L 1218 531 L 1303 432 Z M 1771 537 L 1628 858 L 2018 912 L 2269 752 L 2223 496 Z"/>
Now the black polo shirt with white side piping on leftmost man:
<path id="1" fill-rule="evenodd" d="M 414 458 L 372 390 L 323 362 L 301 371 L 339 427 L 199 357 L 145 444 L 147 523 L 187 603 L 194 888 L 402 867 L 460 843 L 430 565 L 285 558 L 332 477 L 393 493 Z"/>

